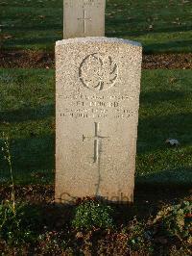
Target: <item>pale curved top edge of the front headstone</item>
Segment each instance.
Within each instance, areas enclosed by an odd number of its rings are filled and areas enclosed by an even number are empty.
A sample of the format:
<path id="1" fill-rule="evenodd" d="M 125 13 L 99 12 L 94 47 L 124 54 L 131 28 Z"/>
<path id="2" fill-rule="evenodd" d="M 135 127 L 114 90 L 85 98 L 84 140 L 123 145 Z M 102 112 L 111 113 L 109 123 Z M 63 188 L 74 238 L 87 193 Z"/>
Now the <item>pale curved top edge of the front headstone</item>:
<path id="1" fill-rule="evenodd" d="M 62 39 L 56 42 L 57 46 L 64 45 L 64 44 L 71 44 L 71 43 L 91 43 L 91 42 L 106 42 L 106 43 L 123 43 L 123 44 L 130 44 L 136 47 L 142 47 L 140 42 L 132 41 L 129 39 L 122 39 L 122 38 L 106 38 L 106 37 L 87 37 L 87 38 L 69 38 L 69 39 Z"/>

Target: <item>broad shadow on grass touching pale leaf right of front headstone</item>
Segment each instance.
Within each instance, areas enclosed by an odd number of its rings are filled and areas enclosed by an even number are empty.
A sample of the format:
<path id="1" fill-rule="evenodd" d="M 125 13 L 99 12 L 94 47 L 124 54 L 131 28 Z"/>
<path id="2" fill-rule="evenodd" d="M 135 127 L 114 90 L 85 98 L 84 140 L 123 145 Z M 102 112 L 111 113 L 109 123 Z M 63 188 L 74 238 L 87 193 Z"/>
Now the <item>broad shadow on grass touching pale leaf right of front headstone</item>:
<path id="1" fill-rule="evenodd" d="M 178 139 L 180 146 L 191 145 L 191 120 L 190 113 L 140 117 L 137 153 L 165 150 L 165 141 L 169 138 Z"/>

